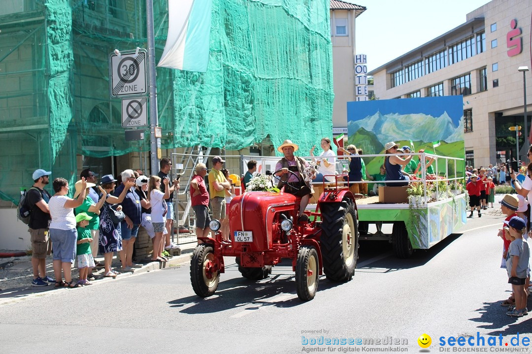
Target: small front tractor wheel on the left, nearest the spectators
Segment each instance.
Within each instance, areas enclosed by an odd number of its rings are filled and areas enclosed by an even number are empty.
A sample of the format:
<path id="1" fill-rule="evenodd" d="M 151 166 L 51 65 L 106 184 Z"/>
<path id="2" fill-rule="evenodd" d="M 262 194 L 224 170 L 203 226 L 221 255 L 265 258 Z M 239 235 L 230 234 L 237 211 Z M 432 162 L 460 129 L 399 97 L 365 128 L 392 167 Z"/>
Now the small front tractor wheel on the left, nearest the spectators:
<path id="1" fill-rule="evenodd" d="M 209 297 L 214 294 L 220 282 L 220 274 L 213 271 L 215 257 L 212 245 L 196 246 L 190 260 L 190 282 L 192 289 L 199 297 Z"/>

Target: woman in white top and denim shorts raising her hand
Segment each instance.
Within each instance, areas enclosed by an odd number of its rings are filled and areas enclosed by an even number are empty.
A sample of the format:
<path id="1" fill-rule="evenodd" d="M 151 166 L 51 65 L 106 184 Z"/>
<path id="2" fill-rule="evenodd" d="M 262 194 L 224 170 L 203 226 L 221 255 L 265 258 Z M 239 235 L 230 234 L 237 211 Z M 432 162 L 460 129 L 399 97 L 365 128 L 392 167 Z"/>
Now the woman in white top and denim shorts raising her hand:
<path id="1" fill-rule="evenodd" d="M 77 284 L 72 284 L 72 263 L 76 258 L 76 244 L 78 241 L 74 208 L 80 206 L 85 200 L 87 181 L 85 177 L 81 177 L 81 192 L 77 199 L 66 196 L 69 191 L 66 179 L 54 179 L 53 187 L 55 194 L 50 198 L 48 208 L 52 217 L 49 233 L 54 249 L 55 287 L 76 288 Z M 65 277 L 64 282 L 62 281 L 61 270 L 63 270 Z"/>

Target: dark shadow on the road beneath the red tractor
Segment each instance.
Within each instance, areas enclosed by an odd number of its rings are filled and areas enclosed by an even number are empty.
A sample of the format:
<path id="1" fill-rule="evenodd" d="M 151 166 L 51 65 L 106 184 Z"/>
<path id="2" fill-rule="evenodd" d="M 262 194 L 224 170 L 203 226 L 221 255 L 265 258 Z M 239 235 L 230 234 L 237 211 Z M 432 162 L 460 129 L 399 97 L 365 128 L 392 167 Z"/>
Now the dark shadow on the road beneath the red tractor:
<path id="1" fill-rule="evenodd" d="M 226 267 L 227 269 L 236 270 L 236 264 Z M 239 307 L 253 310 L 264 306 L 286 308 L 305 303 L 296 295 L 295 275 L 292 272 L 290 260 L 281 262 L 273 268 L 273 273 L 269 278 L 260 281 L 252 281 L 245 278 L 232 278 L 222 281 L 223 275 L 221 274 L 218 290 L 212 297 L 203 299 L 196 295 L 187 296 L 169 301 L 170 307 L 184 307 L 180 312 L 192 315 L 221 312 Z M 320 292 L 342 284 L 342 282 L 329 281 L 325 275 L 322 275 L 318 283 L 316 296 L 319 296 Z M 190 304 L 193 305 L 189 306 Z"/>

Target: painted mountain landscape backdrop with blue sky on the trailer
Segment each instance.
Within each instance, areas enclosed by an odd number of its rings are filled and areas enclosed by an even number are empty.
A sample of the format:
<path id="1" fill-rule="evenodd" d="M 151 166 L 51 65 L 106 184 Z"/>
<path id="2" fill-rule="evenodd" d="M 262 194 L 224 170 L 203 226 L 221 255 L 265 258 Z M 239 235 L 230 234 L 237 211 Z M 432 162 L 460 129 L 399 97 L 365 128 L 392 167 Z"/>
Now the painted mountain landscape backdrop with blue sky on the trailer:
<path id="1" fill-rule="evenodd" d="M 463 159 L 462 96 L 347 102 L 347 134 L 348 143 L 362 149 L 363 154 L 384 153 L 384 144 L 389 141 L 410 146 L 412 140 L 416 152 L 425 149 L 439 156 Z M 436 149 L 435 141 L 440 141 Z M 367 157 L 364 162 L 366 174 L 376 174 L 384 158 Z M 451 177 L 454 170 L 454 161 L 449 161 L 447 171 Z M 442 161 L 438 173 L 443 175 L 445 171 Z M 463 161 L 457 161 L 456 171 L 457 176 L 463 176 Z"/>

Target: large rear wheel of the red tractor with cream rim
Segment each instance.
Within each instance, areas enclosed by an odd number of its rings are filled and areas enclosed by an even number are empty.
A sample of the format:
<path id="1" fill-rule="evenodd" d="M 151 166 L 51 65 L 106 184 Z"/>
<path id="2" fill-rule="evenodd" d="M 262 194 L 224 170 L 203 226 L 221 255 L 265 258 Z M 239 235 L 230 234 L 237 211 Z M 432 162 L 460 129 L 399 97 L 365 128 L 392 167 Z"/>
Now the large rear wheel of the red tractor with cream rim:
<path id="1" fill-rule="evenodd" d="M 323 271 L 332 281 L 351 280 L 359 258 L 359 222 L 353 201 L 323 203 L 320 209 Z"/>

